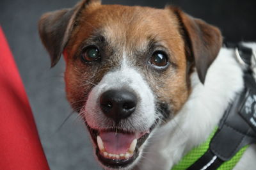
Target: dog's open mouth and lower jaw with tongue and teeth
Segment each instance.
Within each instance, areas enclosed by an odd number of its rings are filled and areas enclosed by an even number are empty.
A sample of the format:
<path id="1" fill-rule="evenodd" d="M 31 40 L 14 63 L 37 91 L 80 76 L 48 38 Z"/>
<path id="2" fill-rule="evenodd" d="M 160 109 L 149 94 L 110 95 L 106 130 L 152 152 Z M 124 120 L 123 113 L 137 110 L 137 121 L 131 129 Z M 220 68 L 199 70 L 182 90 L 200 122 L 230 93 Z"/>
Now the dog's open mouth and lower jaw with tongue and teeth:
<path id="1" fill-rule="evenodd" d="M 143 146 L 156 123 L 144 132 L 127 132 L 120 128 L 97 130 L 89 125 L 87 127 L 95 146 L 95 155 L 104 168 L 130 169 L 140 159 Z"/>

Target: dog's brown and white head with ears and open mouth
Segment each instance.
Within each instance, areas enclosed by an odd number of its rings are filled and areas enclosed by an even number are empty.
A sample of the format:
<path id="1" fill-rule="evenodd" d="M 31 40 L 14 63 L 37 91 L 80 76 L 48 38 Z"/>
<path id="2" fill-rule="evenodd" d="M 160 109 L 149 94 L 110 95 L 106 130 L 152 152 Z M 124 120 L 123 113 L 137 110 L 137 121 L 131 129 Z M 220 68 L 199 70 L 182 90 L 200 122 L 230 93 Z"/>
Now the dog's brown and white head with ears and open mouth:
<path id="1" fill-rule="evenodd" d="M 67 98 L 83 117 L 104 167 L 132 167 L 154 128 L 172 120 L 196 68 L 204 83 L 221 33 L 177 8 L 85 0 L 39 23 L 52 66 L 66 61 Z"/>

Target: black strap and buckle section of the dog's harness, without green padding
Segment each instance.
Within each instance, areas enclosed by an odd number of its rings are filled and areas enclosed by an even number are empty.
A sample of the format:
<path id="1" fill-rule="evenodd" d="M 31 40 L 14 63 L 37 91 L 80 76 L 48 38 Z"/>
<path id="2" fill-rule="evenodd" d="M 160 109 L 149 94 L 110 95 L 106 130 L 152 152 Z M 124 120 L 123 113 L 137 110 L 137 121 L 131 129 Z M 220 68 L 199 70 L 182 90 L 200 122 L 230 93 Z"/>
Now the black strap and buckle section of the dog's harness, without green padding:
<path id="1" fill-rule="evenodd" d="M 230 47 L 230 45 L 228 45 Z M 251 65 L 252 49 L 239 44 L 239 57 Z M 256 83 L 252 70 L 244 72 L 244 90 L 237 94 L 234 102 L 225 111 L 217 132 L 212 137 L 209 150 L 188 170 L 218 169 L 248 144 L 256 143 Z"/>

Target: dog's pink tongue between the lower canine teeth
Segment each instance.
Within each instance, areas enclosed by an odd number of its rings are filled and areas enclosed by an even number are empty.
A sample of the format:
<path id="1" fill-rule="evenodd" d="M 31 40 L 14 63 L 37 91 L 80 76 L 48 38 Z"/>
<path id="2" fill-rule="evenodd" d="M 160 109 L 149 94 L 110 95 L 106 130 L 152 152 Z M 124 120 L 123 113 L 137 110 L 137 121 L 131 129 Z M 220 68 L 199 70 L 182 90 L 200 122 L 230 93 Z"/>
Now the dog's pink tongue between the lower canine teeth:
<path id="1" fill-rule="evenodd" d="M 136 134 L 123 134 L 116 132 L 100 132 L 100 138 L 104 143 L 104 148 L 108 153 L 121 154 L 126 153 Z"/>

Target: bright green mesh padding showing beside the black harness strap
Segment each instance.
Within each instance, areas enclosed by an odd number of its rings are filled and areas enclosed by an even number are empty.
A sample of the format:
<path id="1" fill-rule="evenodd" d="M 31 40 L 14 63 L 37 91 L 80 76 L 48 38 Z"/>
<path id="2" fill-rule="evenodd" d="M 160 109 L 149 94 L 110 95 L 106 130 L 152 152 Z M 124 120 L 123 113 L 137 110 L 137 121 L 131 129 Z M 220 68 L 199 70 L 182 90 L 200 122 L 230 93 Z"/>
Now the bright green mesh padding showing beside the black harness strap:
<path id="1" fill-rule="evenodd" d="M 194 162 L 196 162 L 196 160 L 198 160 L 198 158 L 202 157 L 202 155 L 204 155 L 204 153 L 208 150 L 209 144 L 210 144 L 211 139 L 214 136 L 216 130 L 217 130 L 217 128 L 215 128 L 215 130 L 211 133 L 211 135 L 208 137 L 207 141 L 200 144 L 196 148 L 193 148 L 193 150 L 189 151 L 189 153 L 185 157 L 183 157 L 182 160 L 180 160 L 180 162 L 177 165 L 172 167 L 172 170 L 188 169 L 188 167 L 191 166 L 192 164 L 194 164 Z M 232 159 L 228 160 L 227 162 L 224 162 L 218 168 L 218 170 L 233 169 L 236 166 L 239 159 L 242 157 L 246 148 L 248 148 L 248 146 L 244 146 L 241 150 L 239 150 L 236 153 L 236 155 L 234 155 L 234 157 Z"/>

